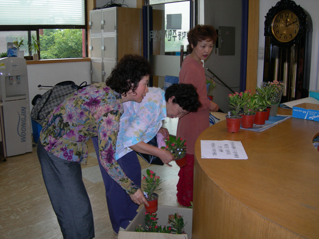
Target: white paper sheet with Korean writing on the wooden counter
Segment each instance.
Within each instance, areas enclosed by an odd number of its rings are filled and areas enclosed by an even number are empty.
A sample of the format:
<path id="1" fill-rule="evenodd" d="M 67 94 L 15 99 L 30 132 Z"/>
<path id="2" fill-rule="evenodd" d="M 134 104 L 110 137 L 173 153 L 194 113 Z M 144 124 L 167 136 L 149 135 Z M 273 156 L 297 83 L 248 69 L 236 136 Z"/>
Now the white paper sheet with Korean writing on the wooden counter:
<path id="1" fill-rule="evenodd" d="M 200 140 L 201 158 L 248 159 L 241 141 Z"/>

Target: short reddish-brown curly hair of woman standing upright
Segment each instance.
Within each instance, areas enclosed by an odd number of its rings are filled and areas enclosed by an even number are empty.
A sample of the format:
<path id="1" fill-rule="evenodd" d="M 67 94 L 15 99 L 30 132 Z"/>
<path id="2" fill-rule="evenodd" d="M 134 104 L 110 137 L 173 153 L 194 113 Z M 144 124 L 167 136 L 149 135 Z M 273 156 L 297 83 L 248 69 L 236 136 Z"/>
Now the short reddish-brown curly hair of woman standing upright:
<path id="1" fill-rule="evenodd" d="M 217 33 L 213 26 L 211 25 L 196 25 L 194 28 L 191 28 L 187 33 L 188 40 L 188 51 L 192 52 L 191 44 L 197 46 L 198 41 L 203 40 L 212 40 L 215 44 L 217 40 Z"/>

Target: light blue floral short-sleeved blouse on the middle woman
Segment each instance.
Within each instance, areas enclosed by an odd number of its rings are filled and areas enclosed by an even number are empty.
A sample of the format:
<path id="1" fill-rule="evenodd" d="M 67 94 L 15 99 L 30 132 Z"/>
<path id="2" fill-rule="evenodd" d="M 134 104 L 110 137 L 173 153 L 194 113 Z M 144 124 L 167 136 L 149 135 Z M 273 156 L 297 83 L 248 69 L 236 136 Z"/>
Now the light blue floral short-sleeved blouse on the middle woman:
<path id="1" fill-rule="evenodd" d="M 125 102 L 124 114 L 116 141 L 115 158 L 119 159 L 132 151 L 130 146 L 149 142 L 159 131 L 162 120 L 166 119 L 165 92 L 150 87 L 142 103 Z"/>

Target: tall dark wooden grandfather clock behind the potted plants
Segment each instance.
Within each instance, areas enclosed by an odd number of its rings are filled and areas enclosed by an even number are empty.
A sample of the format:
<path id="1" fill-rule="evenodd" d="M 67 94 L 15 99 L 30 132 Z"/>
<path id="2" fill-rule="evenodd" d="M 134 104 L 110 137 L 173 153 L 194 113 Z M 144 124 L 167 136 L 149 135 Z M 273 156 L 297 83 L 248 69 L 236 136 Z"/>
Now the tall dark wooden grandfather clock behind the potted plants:
<path id="1" fill-rule="evenodd" d="M 285 84 L 281 102 L 308 97 L 305 72 L 307 15 L 292 0 L 281 0 L 265 20 L 263 81 Z M 308 84 L 307 82 L 308 81 Z"/>

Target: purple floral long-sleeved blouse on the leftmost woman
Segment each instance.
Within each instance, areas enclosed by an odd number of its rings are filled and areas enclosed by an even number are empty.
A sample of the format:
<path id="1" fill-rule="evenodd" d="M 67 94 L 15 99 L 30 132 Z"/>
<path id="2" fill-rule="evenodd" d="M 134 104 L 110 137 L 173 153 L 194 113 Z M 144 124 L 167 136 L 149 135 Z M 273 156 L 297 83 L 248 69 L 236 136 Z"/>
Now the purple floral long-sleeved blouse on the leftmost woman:
<path id="1" fill-rule="evenodd" d="M 128 194 L 134 194 L 138 185 L 126 176 L 114 157 L 122 114 L 121 95 L 105 83 L 92 84 L 69 96 L 51 112 L 40 133 L 41 143 L 56 157 L 86 164 L 86 142 L 99 136 L 102 166 Z"/>

